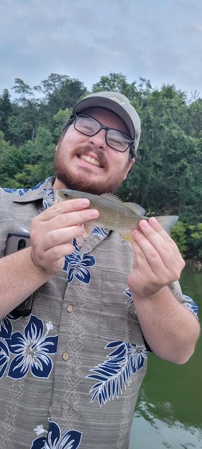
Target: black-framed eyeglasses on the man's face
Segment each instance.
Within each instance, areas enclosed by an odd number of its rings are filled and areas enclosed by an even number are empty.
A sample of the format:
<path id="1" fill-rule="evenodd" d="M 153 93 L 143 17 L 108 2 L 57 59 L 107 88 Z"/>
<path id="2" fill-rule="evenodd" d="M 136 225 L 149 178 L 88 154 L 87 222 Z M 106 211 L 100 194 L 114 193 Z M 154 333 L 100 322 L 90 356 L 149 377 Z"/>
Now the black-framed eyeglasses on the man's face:
<path id="1" fill-rule="evenodd" d="M 98 120 L 85 114 L 75 114 L 74 128 L 84 135 L 93 136 L 97 134 L 101 129 L 105 129 L 105 139 L 107 145 L 116 151 L 124 153 L 128 147 L 135 141 L 130 139 L 127 134 L 124 134 L 118 129 L 108 128 Z"/>

